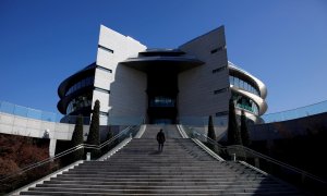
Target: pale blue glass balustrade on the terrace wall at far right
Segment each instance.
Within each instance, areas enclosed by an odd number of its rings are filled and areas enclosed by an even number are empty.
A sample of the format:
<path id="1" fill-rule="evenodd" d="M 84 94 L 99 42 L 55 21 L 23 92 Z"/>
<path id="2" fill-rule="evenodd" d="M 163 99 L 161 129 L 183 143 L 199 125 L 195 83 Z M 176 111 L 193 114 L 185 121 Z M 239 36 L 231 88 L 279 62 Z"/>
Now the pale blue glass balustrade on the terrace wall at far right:
<path id="1" fill-rule="evenodd" d="M 268 113 L 262 115 L 262 119 L 264 119 L 264 123 L 271 123 L 305 118 L 308 115 L 314 115 L 324 112 L 327 112 L 327 100 L 292 110 L 287 110 L 277 113 Z"/>

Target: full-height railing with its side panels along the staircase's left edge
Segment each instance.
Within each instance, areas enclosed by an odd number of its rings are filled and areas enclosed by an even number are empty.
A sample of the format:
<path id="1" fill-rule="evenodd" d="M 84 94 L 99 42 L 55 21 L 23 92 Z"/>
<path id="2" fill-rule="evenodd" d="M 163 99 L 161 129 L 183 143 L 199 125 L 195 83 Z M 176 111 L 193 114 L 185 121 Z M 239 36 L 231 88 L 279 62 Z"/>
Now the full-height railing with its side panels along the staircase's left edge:
<path id="1" fill-rule="evenodd" d="M 112 128 L 113 130 L 113 128 Z M 55 157 L 43 161 L 33 162 L 28 166 L 17 168 L 12 173 L 2 172 L 0 174 L 0 195 L 13 192 L 26 184 L 35 182 L 44 176 L 59 171 L 72 163 L 78 163 L 78 160 L 102 160 L 108 152 L 118 147 L 119 144 L 128 138 L 133 138 L 140 131 L 140 125 L 126 126 L 118 134 L 108 138 L 99 146 L 81 144 L 58 152 Z"/>

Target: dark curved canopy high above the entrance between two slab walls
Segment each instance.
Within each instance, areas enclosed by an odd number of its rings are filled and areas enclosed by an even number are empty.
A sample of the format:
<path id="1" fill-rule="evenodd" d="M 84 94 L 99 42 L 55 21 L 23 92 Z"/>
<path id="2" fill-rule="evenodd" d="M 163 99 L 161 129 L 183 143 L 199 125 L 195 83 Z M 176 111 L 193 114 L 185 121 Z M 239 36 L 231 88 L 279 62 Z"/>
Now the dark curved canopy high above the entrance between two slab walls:
<path id="1" fill-rule="evenodd" d="M 167 56 L 154 56 L 154 57 L 138 57 L 129 58 L 125 61 L 120 62 L 129 68 L 148 72 L 158 66 L 165 66 L 167 69 L 173 69 L 177 72 L 183 72 L 204 64 L 203 61 L 197 60 L 190 56 L 182 57 L 167 57 Z"/>

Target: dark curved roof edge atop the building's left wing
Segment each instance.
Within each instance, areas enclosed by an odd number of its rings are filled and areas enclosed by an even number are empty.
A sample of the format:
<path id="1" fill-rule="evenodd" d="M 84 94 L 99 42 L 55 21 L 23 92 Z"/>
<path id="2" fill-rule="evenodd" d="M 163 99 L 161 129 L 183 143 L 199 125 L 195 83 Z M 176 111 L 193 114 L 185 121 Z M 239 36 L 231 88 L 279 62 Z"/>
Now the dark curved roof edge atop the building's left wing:
<path id="1" fill-rule="evenodd" d="M 77 73 L 71 75 L 66 79 L 64 79 L 58 87 L 58 95 L 60 98 L 63 98 L 68 88 L 74 85 L 76 82 L 95 74 L 96 63 L 92 63 L 90 65 L 84 68 Z"/>

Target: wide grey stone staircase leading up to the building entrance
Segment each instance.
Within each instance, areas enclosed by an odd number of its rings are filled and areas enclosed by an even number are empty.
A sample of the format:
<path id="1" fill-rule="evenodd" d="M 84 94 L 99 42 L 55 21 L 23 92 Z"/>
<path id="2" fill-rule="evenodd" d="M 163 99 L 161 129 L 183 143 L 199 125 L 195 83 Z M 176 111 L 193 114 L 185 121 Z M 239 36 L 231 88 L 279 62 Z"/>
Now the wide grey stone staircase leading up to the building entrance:
<path id="1" fill-rule="evenodd" d="M 156 134 L 164 128 L 164 151 Z M 218 161 L 175 126 L 147 125 L 105 161 L 84 161 L 21 195 L 303 195 L 233 161 Z"/>

